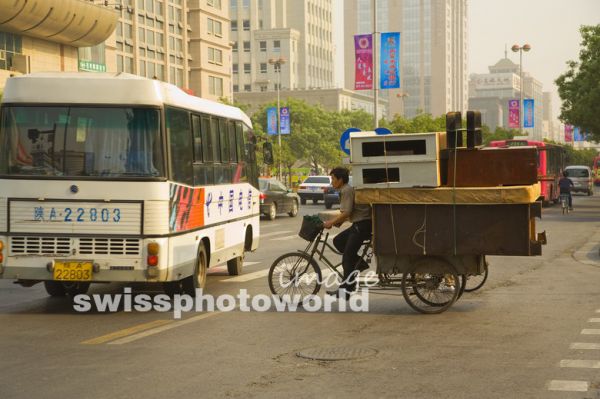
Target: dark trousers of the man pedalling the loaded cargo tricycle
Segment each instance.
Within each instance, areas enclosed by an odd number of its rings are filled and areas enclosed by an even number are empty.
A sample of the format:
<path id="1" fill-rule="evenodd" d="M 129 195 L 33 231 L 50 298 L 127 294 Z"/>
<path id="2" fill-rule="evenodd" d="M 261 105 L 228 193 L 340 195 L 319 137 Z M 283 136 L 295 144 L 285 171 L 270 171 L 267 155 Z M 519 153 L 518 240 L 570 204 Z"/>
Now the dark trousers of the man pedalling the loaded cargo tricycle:
<path id="1" fill-rule="evenodd" d="M 371 230 L 371 221 L 361 220 L 352 223 L 352 226 L 334 237 L 333 246 L 342 253 L 342 267 L 344 268 L 344 281 L 340 285 L 340 289 L 349 292 L 356 289 L 358 273 L 353 274 L 353 272 L 356 270 L 359 260 L 358 250 L 363 241 L 371 239 Z"/>

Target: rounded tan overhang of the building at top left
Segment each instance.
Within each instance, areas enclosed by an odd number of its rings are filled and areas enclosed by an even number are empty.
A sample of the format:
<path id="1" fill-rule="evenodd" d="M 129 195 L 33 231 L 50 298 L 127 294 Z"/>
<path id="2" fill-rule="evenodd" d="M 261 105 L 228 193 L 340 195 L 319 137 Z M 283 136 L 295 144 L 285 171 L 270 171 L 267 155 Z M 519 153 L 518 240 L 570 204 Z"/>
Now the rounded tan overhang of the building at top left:
<path id="1" fill-rule="evenodd" d="M 0 0 L 0 31 L 74 47 L 105 41 L 119 13 L 83 0 Z"/>

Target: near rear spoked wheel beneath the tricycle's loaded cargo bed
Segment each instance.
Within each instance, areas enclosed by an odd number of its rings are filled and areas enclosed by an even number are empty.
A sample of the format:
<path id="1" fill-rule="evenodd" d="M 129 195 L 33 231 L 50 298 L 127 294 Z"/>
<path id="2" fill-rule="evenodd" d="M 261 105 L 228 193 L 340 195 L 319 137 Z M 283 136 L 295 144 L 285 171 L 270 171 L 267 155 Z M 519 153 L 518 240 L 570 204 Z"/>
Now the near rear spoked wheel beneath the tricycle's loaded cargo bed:
<path id="1" fill-rule="evenodd" d="M 411 265 L 402 276 L 402 295 L 411 308 L 420 313 L 442 313 L 461 291 L 456 269 L 441 259 L 426 259 Z"/>

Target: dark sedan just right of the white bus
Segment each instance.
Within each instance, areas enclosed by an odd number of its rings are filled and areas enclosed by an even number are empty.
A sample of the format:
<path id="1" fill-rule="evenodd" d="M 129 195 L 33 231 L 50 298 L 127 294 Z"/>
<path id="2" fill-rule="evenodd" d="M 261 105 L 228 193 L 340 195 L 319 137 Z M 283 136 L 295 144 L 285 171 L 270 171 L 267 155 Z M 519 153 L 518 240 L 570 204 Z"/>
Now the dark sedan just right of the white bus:
<path id="1" fill-rule="evenodd" d="M 300 197 L 283 183 L 273 178 L 259 178 L 260 213 L 273 220 L 278 213 L 287 213 L 291 217 L 298 214 Z"/>

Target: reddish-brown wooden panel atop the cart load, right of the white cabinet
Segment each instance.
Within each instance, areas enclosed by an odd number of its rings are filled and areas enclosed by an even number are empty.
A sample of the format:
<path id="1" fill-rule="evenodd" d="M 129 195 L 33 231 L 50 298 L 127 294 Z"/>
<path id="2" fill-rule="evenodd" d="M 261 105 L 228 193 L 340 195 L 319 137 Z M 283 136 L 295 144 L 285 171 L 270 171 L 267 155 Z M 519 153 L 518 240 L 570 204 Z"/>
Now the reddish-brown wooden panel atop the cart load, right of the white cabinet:
<path id="1" fill-rule="evenodd" d="M 447 161 L 446 185 L 454 182 L 454 150 L 443 150 Z M 444 181 L 444 179 L 442 179 Z M 456 151 L 456 187 L 531 185 L 537 182 L 535 148 L 466 149 Z"/>

